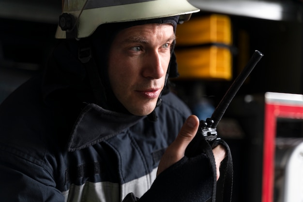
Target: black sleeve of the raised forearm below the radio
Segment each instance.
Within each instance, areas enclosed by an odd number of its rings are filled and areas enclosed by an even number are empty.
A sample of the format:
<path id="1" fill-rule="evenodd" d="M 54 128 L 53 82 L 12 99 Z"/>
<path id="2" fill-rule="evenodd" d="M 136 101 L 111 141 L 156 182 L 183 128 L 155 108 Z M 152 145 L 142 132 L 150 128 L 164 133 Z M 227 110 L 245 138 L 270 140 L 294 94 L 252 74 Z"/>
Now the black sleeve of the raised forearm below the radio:
<path id="1" fill-rule="evenodd" d="M 185 156 L 160 173 L 140 199 L 130 193 L 123 202 L 208 202 L 212 188 L 213 173 L 206 155 Z"/>

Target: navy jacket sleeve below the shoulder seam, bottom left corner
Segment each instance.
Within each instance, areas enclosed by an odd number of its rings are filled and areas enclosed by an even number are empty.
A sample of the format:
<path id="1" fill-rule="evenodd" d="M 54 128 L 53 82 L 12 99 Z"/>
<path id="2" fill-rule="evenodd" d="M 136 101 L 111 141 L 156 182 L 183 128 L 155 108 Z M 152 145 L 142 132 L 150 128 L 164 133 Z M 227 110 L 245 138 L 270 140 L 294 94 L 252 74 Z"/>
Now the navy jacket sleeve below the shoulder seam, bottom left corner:
<path id="1" fill-rule="evenodd" d="M 64 202 L 51 175 L 35 159 L 0 146 L 0 199 L 4 202 Z"/>

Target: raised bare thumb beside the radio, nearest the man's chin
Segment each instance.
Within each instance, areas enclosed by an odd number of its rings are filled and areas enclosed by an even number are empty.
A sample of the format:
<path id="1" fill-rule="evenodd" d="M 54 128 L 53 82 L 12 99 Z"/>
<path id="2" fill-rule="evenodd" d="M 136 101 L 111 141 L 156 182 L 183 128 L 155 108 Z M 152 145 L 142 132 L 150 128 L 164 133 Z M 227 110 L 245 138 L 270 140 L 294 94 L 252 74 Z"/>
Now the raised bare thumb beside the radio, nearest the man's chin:
<path id="1" fill-rule="evenodd" d="M 177 138 L 167 147 L 160 160 L 157 175 L 184 157 L 185 149 L 194 139 L 199 126 L 199 119 L 190 115 L 183 124 Z"/>

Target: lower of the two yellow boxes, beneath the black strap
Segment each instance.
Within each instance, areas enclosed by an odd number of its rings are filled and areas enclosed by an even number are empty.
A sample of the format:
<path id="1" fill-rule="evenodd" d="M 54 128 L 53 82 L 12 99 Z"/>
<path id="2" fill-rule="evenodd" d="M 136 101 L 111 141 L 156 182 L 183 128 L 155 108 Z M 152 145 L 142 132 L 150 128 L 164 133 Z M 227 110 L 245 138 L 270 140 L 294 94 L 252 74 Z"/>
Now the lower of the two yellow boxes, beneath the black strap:
<path id="1" fill-rule="evenodd" d="M 230 80 L 232 57 L 227 47 L 208 46 L 176 49 L 180 79 L 207 78 Z"/>

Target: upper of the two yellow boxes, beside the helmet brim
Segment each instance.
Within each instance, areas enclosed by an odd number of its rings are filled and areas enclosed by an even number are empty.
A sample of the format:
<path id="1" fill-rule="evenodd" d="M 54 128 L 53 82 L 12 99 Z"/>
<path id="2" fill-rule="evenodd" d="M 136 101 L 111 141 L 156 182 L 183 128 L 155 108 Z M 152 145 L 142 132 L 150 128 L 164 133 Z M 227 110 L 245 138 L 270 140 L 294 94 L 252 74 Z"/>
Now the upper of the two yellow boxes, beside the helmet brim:
<path id="1" fill-rule="evenodd" d="M 227 15 L 211 14 L 192 17 L 178 25 L 176 45 L 189 46 L 203 43 L 224 43 L 231 45 L 231 22 Z"/>

